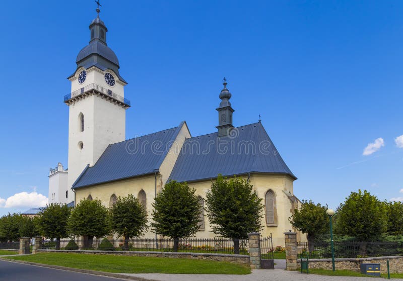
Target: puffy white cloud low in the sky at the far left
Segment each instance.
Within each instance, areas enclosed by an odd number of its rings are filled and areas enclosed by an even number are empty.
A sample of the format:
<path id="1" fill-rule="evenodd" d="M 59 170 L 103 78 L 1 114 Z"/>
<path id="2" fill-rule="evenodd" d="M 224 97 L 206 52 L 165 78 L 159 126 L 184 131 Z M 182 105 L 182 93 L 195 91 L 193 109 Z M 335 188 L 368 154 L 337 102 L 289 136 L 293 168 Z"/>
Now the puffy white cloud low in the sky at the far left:
<path id="1" fill-rule="evenodd" d="M 21 192 L 7 198 L 0 198 L 0 208 L 33 208 L 43 207 L 48 203 L 48 199 L 43 194 L 37 192 Z"/>

